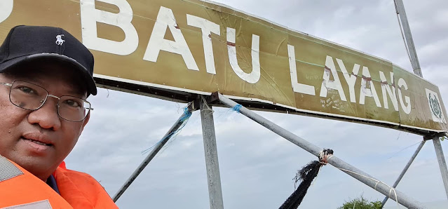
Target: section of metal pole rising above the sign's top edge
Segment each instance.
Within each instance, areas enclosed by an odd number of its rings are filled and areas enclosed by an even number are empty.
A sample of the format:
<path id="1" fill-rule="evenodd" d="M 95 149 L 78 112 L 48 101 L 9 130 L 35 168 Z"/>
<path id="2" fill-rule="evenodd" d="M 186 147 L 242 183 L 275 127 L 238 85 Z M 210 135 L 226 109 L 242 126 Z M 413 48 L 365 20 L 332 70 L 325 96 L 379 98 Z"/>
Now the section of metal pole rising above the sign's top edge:
<path id="1" fill-rule="evenodd" d="M 421 74 L 419 58 L 417 57 L 417 52 L 416 52 L 415 46 L 414 46 L 414 39 L 412 39 L 409 22 L 407 22 L 405 5 L 403 4 L 402 0 L 395 0 L 395 6 L 397 9 L 398 15 L 400 15 L 400 20 L 401 20 L 401 23 L 403 26 L 403 32 L 405 33 L 407 48 L 409 50 L 407 53 L 409 53 L 409 56 L 411 58 L 411 65 L 412 65 L 412 68 L 414 69 L 414 74 L 417 74 L 417 75 L 423 77 L 423 74 Z"/>

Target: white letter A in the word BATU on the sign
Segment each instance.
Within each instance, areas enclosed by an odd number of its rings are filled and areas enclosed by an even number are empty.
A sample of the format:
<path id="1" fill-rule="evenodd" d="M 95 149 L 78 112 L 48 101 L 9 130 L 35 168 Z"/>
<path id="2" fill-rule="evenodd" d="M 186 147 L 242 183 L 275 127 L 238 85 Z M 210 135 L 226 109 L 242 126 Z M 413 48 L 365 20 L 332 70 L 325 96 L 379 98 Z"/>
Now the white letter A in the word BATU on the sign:
<path id="1" fill-rule="evenodd" d="M 167 27 L 170 29 L 175 41 L 164 39 Z M 158 54 L 161 50 L 182 55 L 188 69 L 199 70 L 196 61 L 186 44 L 184 35 L 177 25 L 172 10 L 163 6 L 161 6 L 160 11 L 158 11 L 156 24 L 152 30 L 151 37 L 149 37 L 149 43 L 147 50 L 144 53 L 143 60 L 157 62 Z"/>

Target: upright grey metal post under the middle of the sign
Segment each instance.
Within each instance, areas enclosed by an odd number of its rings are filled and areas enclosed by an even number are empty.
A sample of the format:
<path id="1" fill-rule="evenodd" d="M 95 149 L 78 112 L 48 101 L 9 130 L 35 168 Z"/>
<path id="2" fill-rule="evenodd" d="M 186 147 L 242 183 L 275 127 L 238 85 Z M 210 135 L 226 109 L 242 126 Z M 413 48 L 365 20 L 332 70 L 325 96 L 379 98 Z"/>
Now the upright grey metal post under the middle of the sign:
<path id="1" fill-rule="evenodd" d="M 221 177 L 219 176 L 218 151 L 216 146 L 215 123 L 212 106 L 203 96 L 199 102 L 201 108 L 202 134 L 204 139 L 205 168 L 207 168 L 208 198 L 210 209 L 223 209 Z"/>

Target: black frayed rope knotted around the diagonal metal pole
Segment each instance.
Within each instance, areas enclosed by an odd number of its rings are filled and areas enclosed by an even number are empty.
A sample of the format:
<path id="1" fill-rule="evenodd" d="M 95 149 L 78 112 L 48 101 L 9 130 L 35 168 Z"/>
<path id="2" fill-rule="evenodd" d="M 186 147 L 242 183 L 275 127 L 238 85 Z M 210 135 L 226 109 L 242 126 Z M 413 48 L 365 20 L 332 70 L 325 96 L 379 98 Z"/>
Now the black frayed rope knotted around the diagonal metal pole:
<path id="1" fill-rule="evenodd" d="M 320 167 L 327 165 L 328 159 L 333 156 L 332 149 L 324 149 L 319 153 L 319 161 L 311 161 L 306 166 L 297 170 L 297 174 L 294 177 L 294 187 L 301 180 L 299 187 L 291 194 L 289 198 L 283 203 L 279 209 L 297 209 L 304 199 L 306 191 L 313 182 L 314 178 L 318 176 Z"/>

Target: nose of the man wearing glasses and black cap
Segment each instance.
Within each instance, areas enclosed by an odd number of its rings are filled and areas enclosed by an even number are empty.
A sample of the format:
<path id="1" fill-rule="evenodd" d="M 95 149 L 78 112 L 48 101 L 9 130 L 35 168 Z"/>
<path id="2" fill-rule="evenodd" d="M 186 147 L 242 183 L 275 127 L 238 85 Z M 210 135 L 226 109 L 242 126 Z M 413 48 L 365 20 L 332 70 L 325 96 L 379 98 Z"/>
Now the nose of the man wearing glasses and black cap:
<path id="1" fill-rule="evenodd" d="M 58 130 L 61 126 L 59 115 L 57 114 L 57 100 L 47 98 L 42 107 L 28 114 L 28 122 L 39 124 L 41 128 Z"/>

